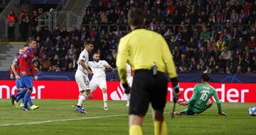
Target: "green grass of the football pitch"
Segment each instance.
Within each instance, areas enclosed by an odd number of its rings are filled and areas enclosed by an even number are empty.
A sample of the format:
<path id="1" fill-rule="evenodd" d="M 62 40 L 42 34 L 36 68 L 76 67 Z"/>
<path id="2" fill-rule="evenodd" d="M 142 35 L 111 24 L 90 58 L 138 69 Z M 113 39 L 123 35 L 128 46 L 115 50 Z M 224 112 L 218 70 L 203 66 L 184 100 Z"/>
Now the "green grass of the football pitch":
<path id="1" fill-rule="evenodd" d="M 128 134 L 128 108 L 124 101 L 109 101 L 109 111 L 103 110 L 103 102 L 85 101 L 88 114 L 75 112 L 71 105 L 76 100 L 33 100 L 40 105 L 38 110 L 25 112 L 16 110 L 10 100 L 0 100 L 0 134 L 86 134 L 86 135 L 122 135 Z M 165 112 L 172 110 L 172 102 L 166 104 Z M 206 112 L 196 116 L 178 116 L 171 119 L 165 113 L 169 134 L 255 134 L 256 117 L 250 117 L 247 109 L 255 104 L 223 103 L 227 117 L 218 116 L 214 104 Z M 176 110 L 185 107 L 176 106 Z M 151 110 L 149 110 L 151 112 Z M 114 116 L 118 115 L 118 116 Z M 60 119 L 75 119 L 60 122 Z M 3 126 L 4 124 L 21 124 L 56 120 L 41 124 L 23 124 Z M 143 133 L 154 134 L 151 115 L 146 115 Z"/>

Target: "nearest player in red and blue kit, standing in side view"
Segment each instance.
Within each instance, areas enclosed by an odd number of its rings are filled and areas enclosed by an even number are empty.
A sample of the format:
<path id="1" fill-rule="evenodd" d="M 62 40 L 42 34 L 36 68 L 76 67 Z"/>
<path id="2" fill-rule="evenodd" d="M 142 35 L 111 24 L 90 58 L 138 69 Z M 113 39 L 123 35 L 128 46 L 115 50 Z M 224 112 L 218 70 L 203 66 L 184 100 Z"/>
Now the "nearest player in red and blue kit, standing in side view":
<path id="1" fill-rule="evenodd" d="M 28 109 L 28 100 L 33 91 L 33 79 L 38 80 L 36 70 L 33 66 L 33 59 L 35 58 L 33 54 L 33 49 L 36 49 L 36 40 L 28 40 L 28 49 L 23 52 L 23 55 L 20 59 L 21 65 L 21 80 L 23 82 L 24 88 L 27 88 L 26 94 L 24 96 L 24 106 L 23 110 L 29 111 Z M 33 77 L 34 76 L 34 77 Z"/>

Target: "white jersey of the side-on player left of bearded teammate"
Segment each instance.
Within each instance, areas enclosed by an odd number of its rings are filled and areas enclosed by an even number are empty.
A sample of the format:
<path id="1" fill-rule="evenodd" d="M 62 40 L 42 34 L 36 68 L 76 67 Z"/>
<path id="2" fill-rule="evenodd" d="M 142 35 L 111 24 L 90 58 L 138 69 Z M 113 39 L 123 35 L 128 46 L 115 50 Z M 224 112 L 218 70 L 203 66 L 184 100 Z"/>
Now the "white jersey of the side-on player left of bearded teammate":
<path id="1" fill-rule="evenodd" d="M 79 77 L 79 76 L 87 76 L 87 71 L 85 69 L 82 68 L 82 66 L 79 64 L 80 60 L 84 60 L 85 64 L 88 65 L 88 61 L 89 61 L 89 54 L 87 52 L 86 49 L 84 49 L 78 58 L 77 64 L 78 64 L 78 70 L 75 72 L 75 77 Z"/>

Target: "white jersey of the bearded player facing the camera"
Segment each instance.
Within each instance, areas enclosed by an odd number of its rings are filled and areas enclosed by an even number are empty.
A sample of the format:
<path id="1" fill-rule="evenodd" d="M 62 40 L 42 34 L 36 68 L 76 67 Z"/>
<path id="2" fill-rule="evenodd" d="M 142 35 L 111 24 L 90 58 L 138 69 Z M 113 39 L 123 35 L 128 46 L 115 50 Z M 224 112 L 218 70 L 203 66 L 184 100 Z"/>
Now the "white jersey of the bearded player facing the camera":
<path id="1" fill-rule="evenodd" d="M 89 61 L 88 65 L 90 69 L 92 69 L 93 78 L 96 78 L 96 77 L 106 78 L 105 69 L 106 67 L 110 66 L 110 64 L 108 64 L 107 61 L 104 61 L 104 60 L 100 60 L 98 62 Z"/>

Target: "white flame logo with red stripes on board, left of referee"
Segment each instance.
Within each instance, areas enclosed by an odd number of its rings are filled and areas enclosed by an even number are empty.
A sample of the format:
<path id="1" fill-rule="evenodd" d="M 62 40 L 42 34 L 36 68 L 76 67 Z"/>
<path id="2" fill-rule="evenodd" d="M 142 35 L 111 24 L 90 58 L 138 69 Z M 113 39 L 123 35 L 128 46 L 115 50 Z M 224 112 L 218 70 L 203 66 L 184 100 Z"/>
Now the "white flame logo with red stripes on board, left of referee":
<path id="1" fill-rule="evenodd" d="M 112 100 L 127 100 L 127 95 L 124 94 L 124 87 L 122 86 L 122 83 L 119 83 L 117 90 L 114 90 L 110 94 L 110 98 Z"/>

